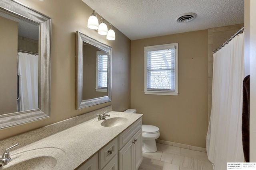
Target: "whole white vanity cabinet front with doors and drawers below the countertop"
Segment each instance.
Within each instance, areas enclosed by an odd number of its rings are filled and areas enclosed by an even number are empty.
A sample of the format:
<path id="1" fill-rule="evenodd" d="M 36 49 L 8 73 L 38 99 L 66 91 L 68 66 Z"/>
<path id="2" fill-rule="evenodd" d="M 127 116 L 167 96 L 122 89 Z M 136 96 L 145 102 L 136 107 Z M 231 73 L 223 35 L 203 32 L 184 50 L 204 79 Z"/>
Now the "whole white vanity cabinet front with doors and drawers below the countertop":
<path id="1" fill-rule="evenodd" d="M 142 118 L 101 149 L 78 170 L 138 170 L 142 162 Z"/>

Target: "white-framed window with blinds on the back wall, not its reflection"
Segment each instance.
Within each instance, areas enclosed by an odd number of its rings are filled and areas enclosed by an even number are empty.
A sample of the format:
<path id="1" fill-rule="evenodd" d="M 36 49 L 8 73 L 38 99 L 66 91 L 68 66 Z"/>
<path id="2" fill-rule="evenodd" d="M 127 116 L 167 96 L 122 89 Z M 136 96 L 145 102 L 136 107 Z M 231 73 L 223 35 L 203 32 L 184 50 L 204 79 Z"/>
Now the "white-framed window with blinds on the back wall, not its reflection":
<path id="1" fill-rule="evenodd" d="M 144 92 L 178 95 L 178 43 L 145 47 Z"/>

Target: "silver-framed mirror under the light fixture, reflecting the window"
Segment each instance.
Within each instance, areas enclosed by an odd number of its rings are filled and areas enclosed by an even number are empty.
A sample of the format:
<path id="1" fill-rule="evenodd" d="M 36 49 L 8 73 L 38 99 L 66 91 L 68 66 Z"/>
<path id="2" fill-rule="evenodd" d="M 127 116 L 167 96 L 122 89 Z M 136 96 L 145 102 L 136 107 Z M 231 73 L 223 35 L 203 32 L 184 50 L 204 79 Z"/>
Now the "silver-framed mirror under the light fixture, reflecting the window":
<path id="1" fill-rule="evenodd" d="M 76 109 L 111 101 L 112 48 L 76 31 Z"/>

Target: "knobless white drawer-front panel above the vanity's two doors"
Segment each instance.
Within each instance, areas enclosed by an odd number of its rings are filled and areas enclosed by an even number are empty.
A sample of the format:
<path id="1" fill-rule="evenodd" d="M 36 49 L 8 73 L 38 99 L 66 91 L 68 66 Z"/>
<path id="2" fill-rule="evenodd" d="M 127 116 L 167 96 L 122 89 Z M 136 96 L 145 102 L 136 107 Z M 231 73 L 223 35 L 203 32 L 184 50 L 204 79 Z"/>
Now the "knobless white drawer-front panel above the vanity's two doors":
<path id="1" fill-rule="evenodd" d="M 118 136 L 118 150 L 120 150 L 142 126 L 142 118 L 136 120 L 128 129 Z"/>

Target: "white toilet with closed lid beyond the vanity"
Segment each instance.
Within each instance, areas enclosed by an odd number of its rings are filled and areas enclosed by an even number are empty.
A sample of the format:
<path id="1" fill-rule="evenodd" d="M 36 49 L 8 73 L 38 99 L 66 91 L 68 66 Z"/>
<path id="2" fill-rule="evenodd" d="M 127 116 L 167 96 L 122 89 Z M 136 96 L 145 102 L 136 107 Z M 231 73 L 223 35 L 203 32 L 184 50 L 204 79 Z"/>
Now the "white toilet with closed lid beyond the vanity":
<path id="1" fill-rule="evenodd" d="M 127 109 L 126 113 L 137 113 L 136 109 Z M 142 151 L 156 152 L 156 139 L 160 136 L 159 128 L 153 125 L 142 125 Z"/>

